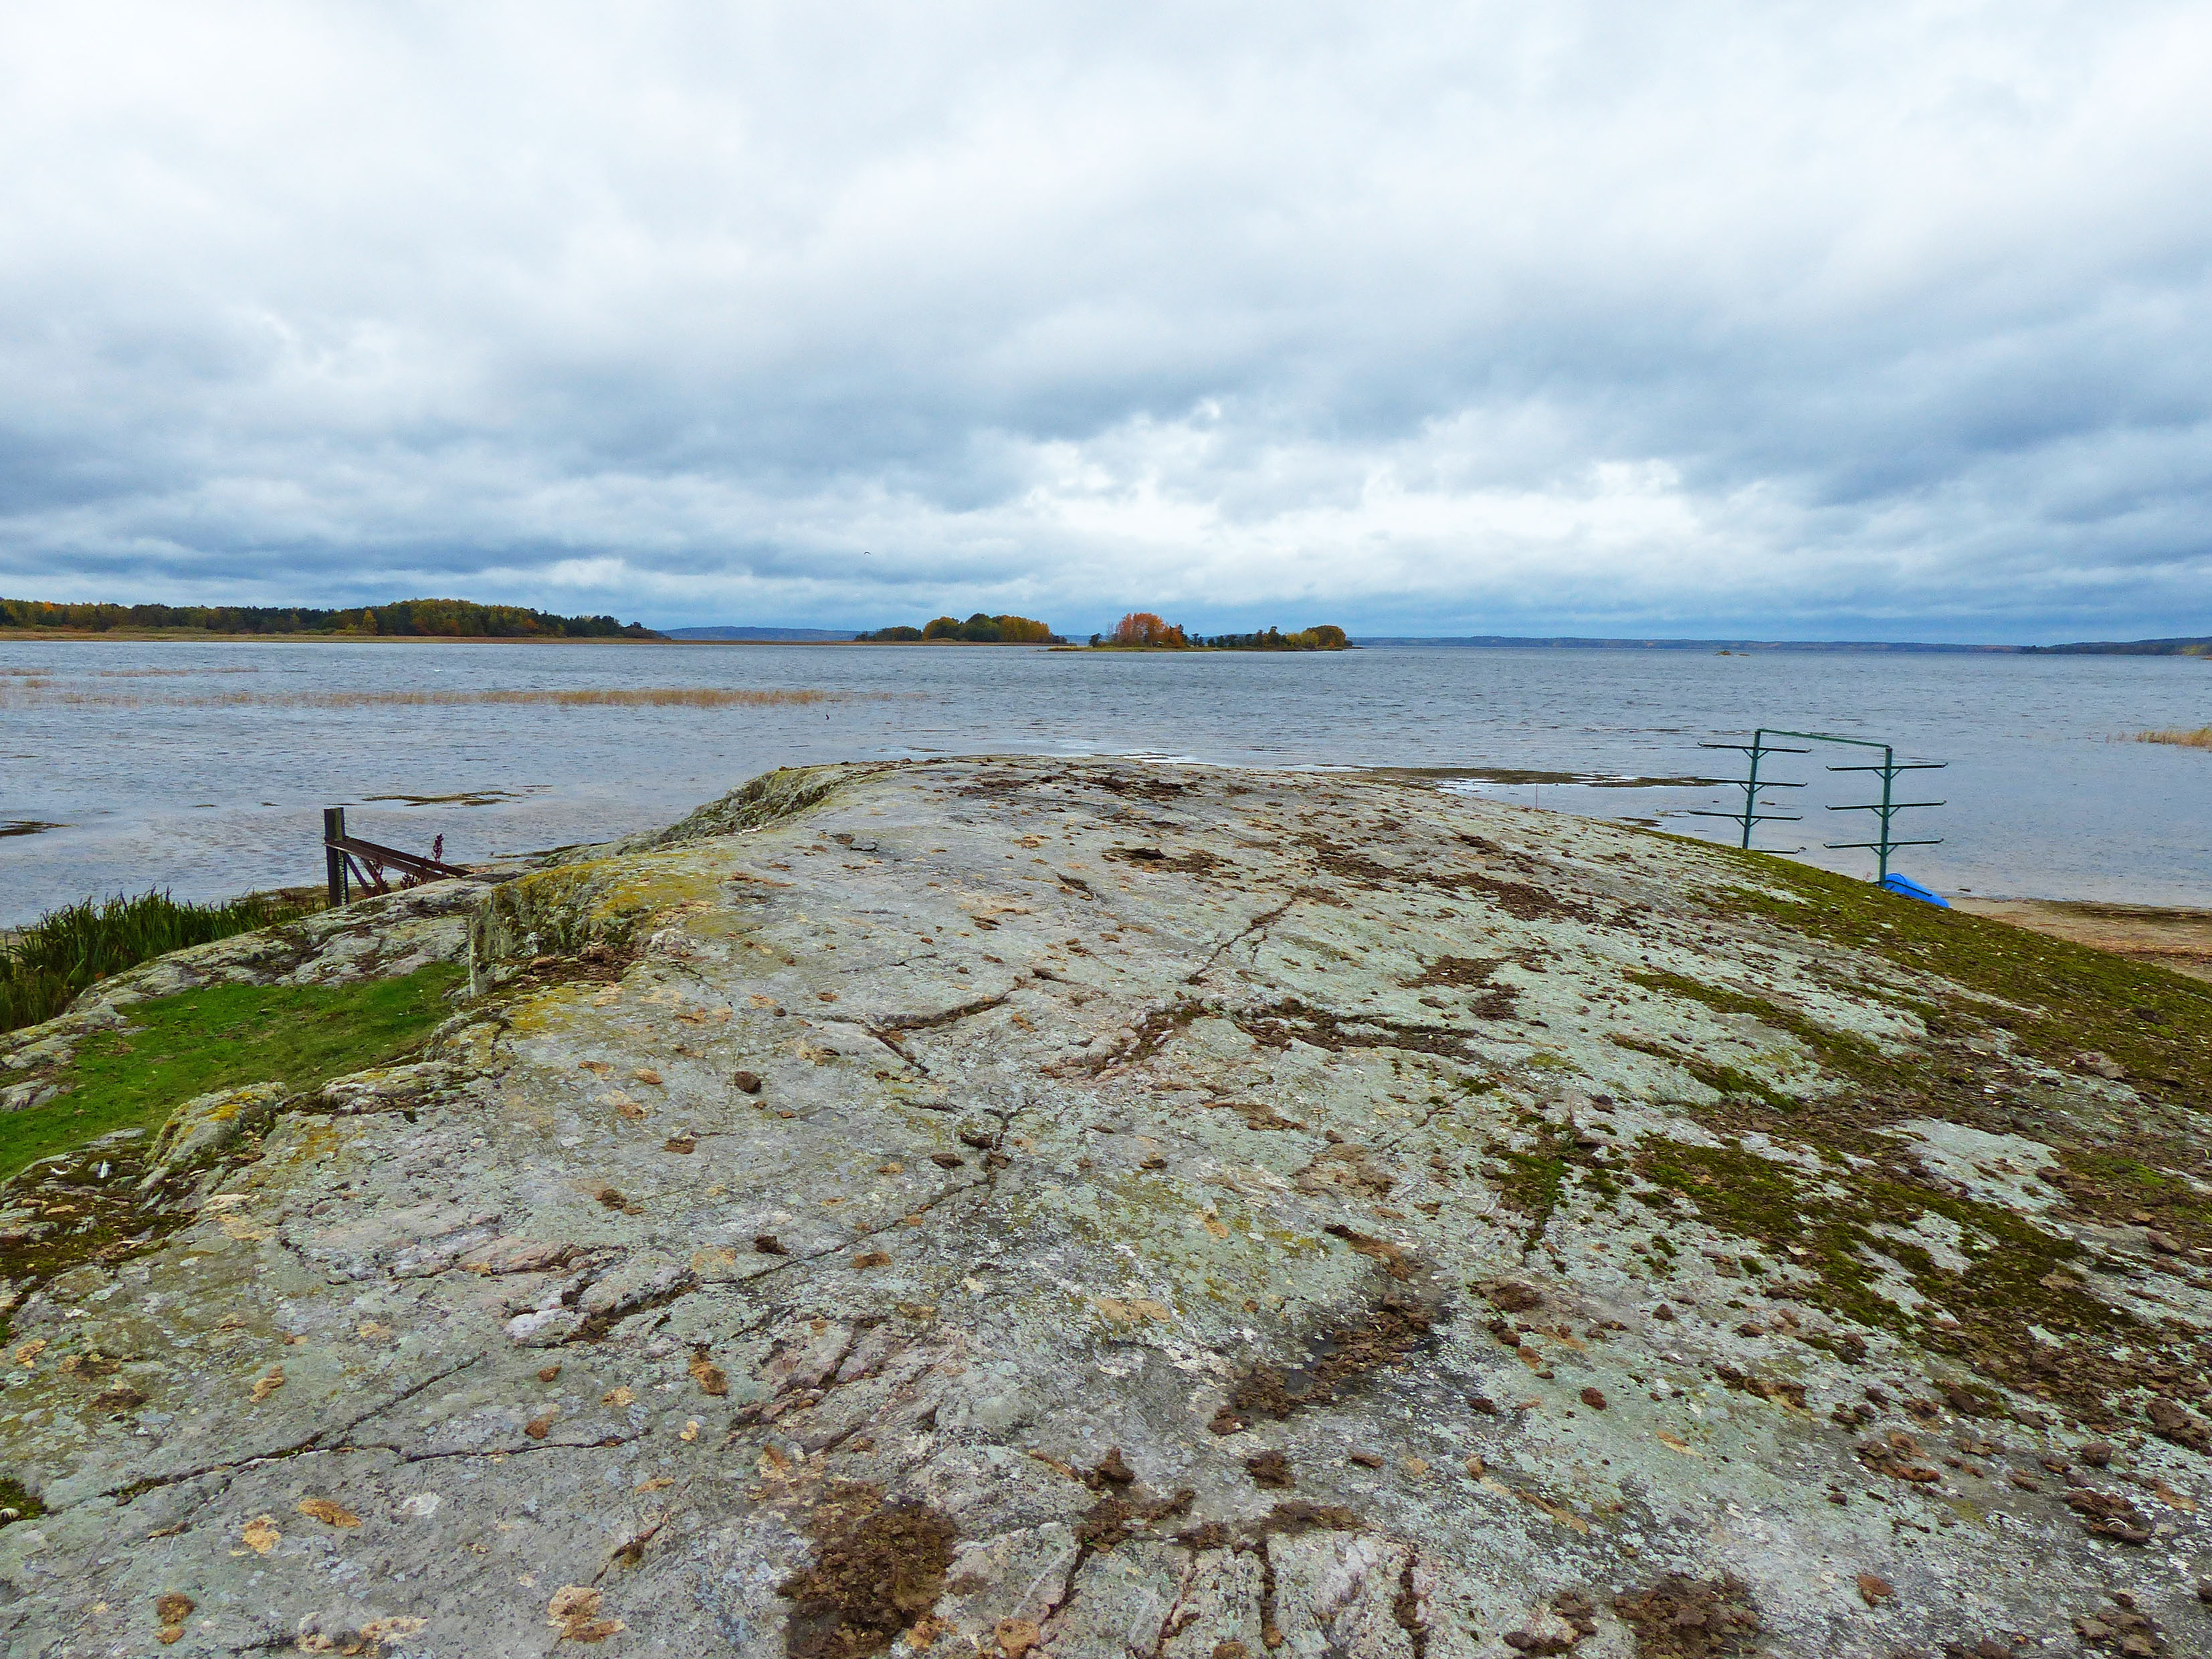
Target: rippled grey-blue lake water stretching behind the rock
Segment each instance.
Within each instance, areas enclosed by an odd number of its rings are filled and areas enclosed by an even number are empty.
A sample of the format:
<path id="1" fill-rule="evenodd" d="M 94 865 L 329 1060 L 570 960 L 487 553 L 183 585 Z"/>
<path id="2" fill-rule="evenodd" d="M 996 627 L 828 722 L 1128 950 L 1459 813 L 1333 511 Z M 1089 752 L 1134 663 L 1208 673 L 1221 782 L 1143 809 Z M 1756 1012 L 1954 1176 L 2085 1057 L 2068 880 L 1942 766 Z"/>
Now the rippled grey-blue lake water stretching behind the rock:
<path id="1" fill-rule="evenodd" d="M 416 692 L 823 690 L 781 706 L 405 703 Z M 1900 779 L 1896 865 L 1942 891 L 2212 902 L 2212 752 L 2117 741 L 2212 723 L 2212 664 L 1692 650 L 1369 648 L 1068 655 L 1022 648 L 77 644 L 0 639 L 0 925 L 86 894 L 217 898 L 319 883 L 321 810 L 473 860 L 668 823 L 748 776 L 911 754 L 1128 754 L 1263 768 L 1440 768 L 1442 787 L 1734 841 L 1752 726 L 1871 737 Z M 1763 845 L 1871 872 L 1865 774 L 1783 757 L 1803 823 Z M 1515 781 L 1546 772 L 1579 783 Z M 1595 779 L 1677 779 L 1599 783 Z M 1736 801 L 1730 801 L 1730 794 Z M 1911 823 L 1911 827 L 1902 827 Z M 22 830 L 22 825 L 53 825 Z M 13 830 L 13 834 L 11 834 Z"/>

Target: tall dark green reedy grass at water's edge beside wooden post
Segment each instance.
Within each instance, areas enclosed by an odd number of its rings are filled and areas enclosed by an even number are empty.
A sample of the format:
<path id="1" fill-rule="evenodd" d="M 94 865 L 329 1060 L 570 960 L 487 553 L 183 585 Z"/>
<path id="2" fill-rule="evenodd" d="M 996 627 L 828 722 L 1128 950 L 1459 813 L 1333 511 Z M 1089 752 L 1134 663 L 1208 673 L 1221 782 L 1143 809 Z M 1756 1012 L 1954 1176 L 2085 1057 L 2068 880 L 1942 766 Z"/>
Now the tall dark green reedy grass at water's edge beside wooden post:
<path id="1" fill-rule="evenodd" d="M 290 922 L 310 909 L 316 907 L 270 894 L 179 905 L 164 891 L 46 911 L 0 947 L 0 1031 L 53 1020 L 80 991 L 139 962 Z"/>

